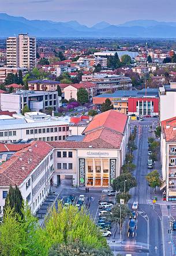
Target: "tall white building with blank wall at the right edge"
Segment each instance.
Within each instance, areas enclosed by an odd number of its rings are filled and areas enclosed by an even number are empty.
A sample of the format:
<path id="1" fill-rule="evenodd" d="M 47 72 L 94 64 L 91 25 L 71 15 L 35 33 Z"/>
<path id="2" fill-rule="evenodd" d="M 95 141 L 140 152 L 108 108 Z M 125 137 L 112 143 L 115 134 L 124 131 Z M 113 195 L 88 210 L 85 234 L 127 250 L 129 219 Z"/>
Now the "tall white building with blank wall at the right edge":
<path id="1" fill-rule="evenodd" d="M 159 87 L 160 122 L 176 116 L 176 82 Z"/>

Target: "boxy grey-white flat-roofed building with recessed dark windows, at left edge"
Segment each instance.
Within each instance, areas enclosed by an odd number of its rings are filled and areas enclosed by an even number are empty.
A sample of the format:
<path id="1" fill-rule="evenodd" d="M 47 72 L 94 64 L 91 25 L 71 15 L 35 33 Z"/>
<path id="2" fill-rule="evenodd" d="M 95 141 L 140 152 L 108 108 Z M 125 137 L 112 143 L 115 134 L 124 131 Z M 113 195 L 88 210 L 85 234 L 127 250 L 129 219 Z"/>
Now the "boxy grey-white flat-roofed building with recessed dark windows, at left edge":
<path id="1" fill-rule="evenodd" d="M 48 107 L 58 110 L 61 105 L 61 97 L 58 92 L 18 90 L 15 93 L 1 94 L 1 110 L 16 111 L 21 113 L 24 105 L 28 105 L 31 111 L 44 112 Z"/>

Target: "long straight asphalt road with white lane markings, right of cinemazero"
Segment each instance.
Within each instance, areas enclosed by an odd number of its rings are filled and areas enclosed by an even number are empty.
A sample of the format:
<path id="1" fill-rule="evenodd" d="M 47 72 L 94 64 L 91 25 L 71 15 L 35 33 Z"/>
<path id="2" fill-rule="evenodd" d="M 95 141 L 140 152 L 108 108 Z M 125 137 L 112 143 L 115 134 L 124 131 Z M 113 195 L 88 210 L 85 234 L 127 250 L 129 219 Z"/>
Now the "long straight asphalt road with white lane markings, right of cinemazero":
<path id="1" fill-rule="evenodd" d="M 149 173 L 147 168 L 148 159 L 148 137 L 153 136 L 149 133 L 149 126 L 154 130 L 157 123 L 156 118 L 144 119 L 142 122 L 132 121 L 131 128 L 137 126 L 136 144 L 137 150 L 134 151 L 134 164 L 136 170 L 133 171 L 137 180 L 136 188 L 131 189 L 132 198 L 129 201 L 131 207 L 134 201 L 138 201 L 137 229 L 133 238 L 127 236 L 128 221 L 124 225 L 123 242 L 117 244 L 114 249 L 119 253 L 130 253 L 134 255 L 156 255 L 165 256 L 163 225 L 159 217 L 160 214 L 154 211 L 151 204 L 151 188 L 145 176 Z M 157 207 L 157 206 L 155 206 Z"/>

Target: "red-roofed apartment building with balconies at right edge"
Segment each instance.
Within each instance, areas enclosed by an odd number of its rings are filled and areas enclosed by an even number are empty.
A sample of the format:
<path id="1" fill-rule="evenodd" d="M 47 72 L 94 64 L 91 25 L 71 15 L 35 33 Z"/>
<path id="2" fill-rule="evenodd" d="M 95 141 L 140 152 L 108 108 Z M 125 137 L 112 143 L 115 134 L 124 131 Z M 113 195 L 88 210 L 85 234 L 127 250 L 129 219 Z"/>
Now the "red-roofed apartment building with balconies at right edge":
<path id="1" fill-rule="evenodd" d="M 163 200 L 176 201 L 176 117 L 161 122 Z"/>

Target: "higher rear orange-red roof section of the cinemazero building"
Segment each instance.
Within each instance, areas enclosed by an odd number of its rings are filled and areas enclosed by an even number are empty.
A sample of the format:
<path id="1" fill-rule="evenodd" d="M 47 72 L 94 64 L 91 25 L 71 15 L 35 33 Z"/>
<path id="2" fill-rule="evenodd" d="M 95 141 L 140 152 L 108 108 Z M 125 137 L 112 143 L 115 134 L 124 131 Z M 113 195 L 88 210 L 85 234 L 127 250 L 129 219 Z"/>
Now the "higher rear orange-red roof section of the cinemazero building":
<path id="1" fill-rule="evenodd" d="M 127 120 L 127 115 L 111 109 L 94 116 L 92 122 L 89 123 L 83 133 L 86 134 L 89 131 L 96 130 L 100 127 L 104 127 L 118 133 L 123 133 Z"/>

